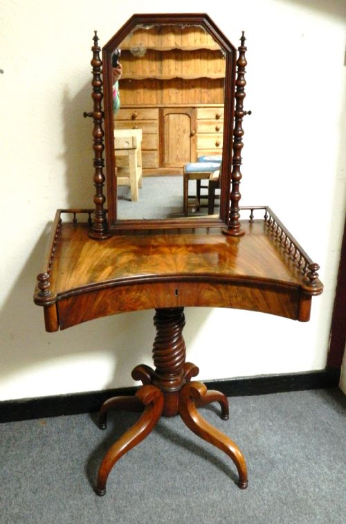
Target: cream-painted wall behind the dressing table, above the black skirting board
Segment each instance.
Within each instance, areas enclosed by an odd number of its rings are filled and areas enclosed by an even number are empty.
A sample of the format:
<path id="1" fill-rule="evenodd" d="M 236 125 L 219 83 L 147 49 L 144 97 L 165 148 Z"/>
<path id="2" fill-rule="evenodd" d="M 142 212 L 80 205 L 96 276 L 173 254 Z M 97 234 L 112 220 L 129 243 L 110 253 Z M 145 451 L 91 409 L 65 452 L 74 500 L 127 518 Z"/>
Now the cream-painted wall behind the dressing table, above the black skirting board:
<path id="1" fill-rule="evenodd" d="M 220 7 L 222 5 L 222 7 Z M 0 399 L 131 386 L 150 363 L 152 311 L 44 332 L 33 304 L 56 208 L 92 205 L 90 48 L 134 13 L 208 12 L 248 44 L 242 203 L 268 204 L 321 266 L 311 321 L 186 309 L 201 379 L 325 367 L 345 215 L 345 10 L 323 1 L 2 0 Z M 313 6 L 313 7 L 311 7 Z M 345 144 L 345 141 L 344 141 Z"/>

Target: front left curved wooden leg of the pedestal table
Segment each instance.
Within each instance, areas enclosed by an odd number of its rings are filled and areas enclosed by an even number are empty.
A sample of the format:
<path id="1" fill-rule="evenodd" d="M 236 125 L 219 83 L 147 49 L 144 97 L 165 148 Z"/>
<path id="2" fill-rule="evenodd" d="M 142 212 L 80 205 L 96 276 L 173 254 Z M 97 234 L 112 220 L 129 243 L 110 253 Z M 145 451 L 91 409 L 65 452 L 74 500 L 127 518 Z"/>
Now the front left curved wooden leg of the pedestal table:
<path id="1" fill-rule="evenodd" d="M 156 386 L 143 386 L 138 392 L 136 397 L 139 401 L 145 405 L 143 415 L 134 426 L 132 426 L 122 437 L 120 437 L 107 451 L 100 469 L 98 471 L 98 482 L 95 487 L 95 492 L 99 496 L 106 493 L 106 482 L 111 469 L 114 464 L 125 455 L 127 451 L 134 448 L 136 444 L 142 442 L 142 440 L 149 435 L 152 431 L 158 419 L 161 417 L 163 411 L 163 393 Z"/>

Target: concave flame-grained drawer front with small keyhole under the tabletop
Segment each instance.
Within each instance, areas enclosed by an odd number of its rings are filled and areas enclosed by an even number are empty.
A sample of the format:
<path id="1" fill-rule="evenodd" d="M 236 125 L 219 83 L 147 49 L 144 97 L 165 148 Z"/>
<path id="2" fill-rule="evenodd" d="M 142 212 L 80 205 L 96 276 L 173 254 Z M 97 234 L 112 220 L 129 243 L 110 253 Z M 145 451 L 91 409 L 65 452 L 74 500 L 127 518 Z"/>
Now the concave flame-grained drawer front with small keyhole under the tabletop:
<path id="1" fill-rule="evenodd" d="M 125 285 L 84 292 L 57 302 L 60 329 L 102 316 L 163 307 L 233 307 L 297 319 L 296 288 L 248 284 L 167 282 Z"/>

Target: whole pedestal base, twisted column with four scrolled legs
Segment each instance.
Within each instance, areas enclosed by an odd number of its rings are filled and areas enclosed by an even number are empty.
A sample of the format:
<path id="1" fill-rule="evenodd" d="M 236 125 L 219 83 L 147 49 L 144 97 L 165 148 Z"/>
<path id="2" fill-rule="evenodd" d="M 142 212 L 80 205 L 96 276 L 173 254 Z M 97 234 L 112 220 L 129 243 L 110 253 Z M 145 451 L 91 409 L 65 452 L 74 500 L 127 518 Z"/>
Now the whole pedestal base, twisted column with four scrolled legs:
<path id="1" fill-rule="evenodd" d="M 113 397 L 101 407 L 101 429 L 107 426 L 109 410 L 143 413 L 138 422 L 107 451 L 98 471 L 95 492 L 100 496 L 106 493 L 107 478 L 114 464 L 149 435 L 161 415 L 172 417 L 178 414 L 193 433 L 224 451 L 233 460 L 239 474 L 237 484 L 242 489 L 246 488 L 248 478 L 242 452 L 230 438 L 209 424 L 197 411 L 197 407 L 217 401 L 221 406 L 221 418 L 226 420 L 228 399 L 219 391 L 208 391 L 201 382 L 191 381 L 192 377 L 197 376 L 199 369 L 196 365 L 185 362 L 183 307 L 156 309 L 154 325 L 157 331 L 153 347 L 155 370 L 147 365 L 136 366 L 132 377 L 143 383 L 136 395 Z"/>

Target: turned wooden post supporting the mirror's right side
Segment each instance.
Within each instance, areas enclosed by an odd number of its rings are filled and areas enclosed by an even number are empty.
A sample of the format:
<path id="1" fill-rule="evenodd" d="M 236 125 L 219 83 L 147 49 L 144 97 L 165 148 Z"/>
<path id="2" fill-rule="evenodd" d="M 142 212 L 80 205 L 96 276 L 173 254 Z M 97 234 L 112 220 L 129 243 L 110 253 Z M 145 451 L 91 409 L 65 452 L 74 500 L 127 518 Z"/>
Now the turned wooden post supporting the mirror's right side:
<path id="1" fill-rule="evenodd" d="M 233 160 L 232 160 L 232 173 L 231 173 L 231 185 L 232 190 L 230 192 L 230 217 L 228 228 L 224 229 L 223 233 L 225 235 L 230 235 L 233 237 L 239 237 L 244 235 L 244 231 L 239 222 L 240 213 L 239 213 L 239 200 L 242 198 L 242 195 L 239 192 L 239 185 L 242 179 L 242 172 L 240 166 L 242 165 L 242 148 L 243 148 L 243 135 L 244 129 L 243 118 L 246 114 L 251 115 L 251 111 L 244 111 L 243 102 L 246 97 L 245 93 L 245 73 L 246 73 L 246 57 L 245 53 L 247 48 L 245 46 L 245 35 L 244 31 L 242 32 L 242 37 L 240 39 L 240 46 L 238 48 L 239 56 L 237 60 L 237 80 L 235 82 L 236 91 L 235 91 L 235 128 L 233 132 Z"/>

